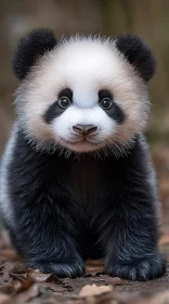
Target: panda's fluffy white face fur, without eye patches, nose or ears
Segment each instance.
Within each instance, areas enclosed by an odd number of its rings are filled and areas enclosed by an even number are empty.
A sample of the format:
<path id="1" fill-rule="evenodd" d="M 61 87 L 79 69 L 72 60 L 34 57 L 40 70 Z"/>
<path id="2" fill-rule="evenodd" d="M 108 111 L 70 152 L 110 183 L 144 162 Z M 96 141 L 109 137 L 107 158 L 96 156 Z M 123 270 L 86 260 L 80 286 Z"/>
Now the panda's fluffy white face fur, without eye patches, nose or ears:
<path id="1" fill-rule="evenodd" d="M 46 110 L 60 91 L 70 88 L 74 103 L 47 124 Z M 117 124 L 99 105 L 98 93 L 108 89 L 126 115 Z M 148 99 L 146 86 L 116 49 L 115 41 L 75 37 L 46 53 L 16 91 L 18 121 L 37 148 L 61 144 L 77 152 L 98 150 L 105 142 L 126 143 L 145 126 Z M 73 125 L 98 126 L 94 143 L 79 142 Z"/>

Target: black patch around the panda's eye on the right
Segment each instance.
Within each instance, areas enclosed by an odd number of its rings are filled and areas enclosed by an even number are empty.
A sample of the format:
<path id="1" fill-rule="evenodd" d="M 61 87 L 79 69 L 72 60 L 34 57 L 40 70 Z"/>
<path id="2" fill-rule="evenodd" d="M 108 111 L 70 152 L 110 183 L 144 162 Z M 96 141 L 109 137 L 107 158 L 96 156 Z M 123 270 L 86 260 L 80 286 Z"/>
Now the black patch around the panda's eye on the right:
<path id="1" fill-rule="evenodd" d="M 121 107 L 116 102 L 114 102 L 114 98 L 110 91 L 106 89 L 99 91 L 99 104 L 106 112 L 106 114 L 110 118 L 115 119 L 118 124 L 122 124 L 125 122 L 126 115 Z"/>

